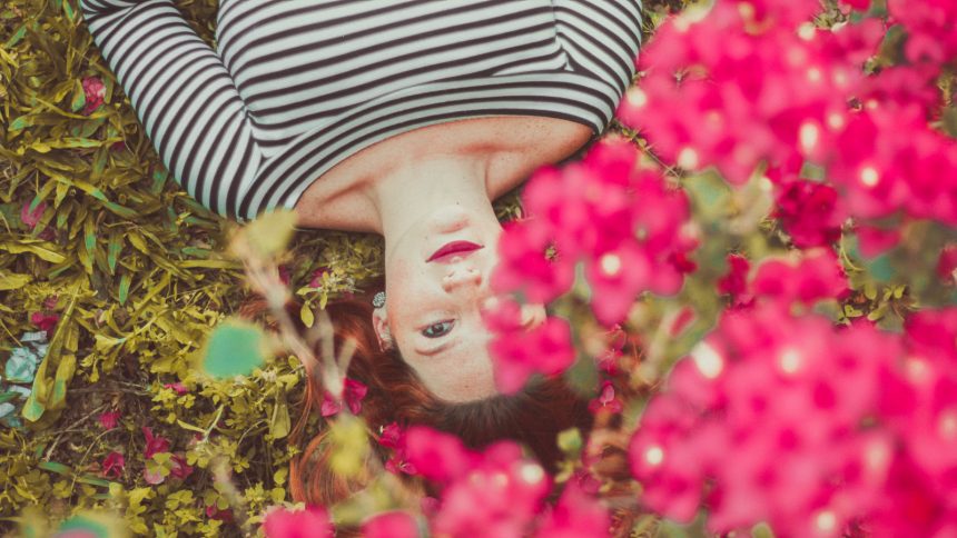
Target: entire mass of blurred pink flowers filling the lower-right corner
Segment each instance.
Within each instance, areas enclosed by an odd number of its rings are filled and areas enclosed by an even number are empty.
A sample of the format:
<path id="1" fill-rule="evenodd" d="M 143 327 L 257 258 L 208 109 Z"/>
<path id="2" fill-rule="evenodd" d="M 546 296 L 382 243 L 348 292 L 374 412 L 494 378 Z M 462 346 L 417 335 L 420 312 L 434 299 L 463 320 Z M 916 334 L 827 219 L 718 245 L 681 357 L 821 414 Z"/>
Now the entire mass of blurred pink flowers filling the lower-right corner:
<path id="1" fill-rule="evenodd" d="M 957 399 L 945 396 L 957 387 L 957 309 L 914 316 L 906 338 L 791 313 L 835 296 L 833 269 L 828 255 L 763 263 L 754 303 L 728 310 L 679 361 L 630 448 L 649 507 L 679 520 L 704 507 L 717 532 L 957 530 Z"/>

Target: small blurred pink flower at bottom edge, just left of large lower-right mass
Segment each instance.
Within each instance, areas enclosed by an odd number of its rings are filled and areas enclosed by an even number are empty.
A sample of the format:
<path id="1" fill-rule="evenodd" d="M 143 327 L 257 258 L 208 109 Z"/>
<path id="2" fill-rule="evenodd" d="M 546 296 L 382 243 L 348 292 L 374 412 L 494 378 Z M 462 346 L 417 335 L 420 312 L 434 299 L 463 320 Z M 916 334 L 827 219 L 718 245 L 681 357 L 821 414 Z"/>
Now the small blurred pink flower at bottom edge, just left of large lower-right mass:
<path id="1" fill-rule="evenodd" d="M 609 536 L 611 518 L 596 499 L 585 494 L 578 481 L 570 480 L 559 504 L 545 517 L 535 536 L 542 538 L 579 538 Z"/>

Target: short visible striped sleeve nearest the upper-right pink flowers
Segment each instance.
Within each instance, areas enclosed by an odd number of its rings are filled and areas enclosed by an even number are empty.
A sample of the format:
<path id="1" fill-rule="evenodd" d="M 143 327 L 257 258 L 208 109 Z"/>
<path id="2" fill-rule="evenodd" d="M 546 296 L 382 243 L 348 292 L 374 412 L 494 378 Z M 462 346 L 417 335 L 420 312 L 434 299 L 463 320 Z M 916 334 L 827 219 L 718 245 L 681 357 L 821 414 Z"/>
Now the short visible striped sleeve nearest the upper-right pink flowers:
<path id="1" fill-rule="evenodd" d="M 573 70 L 624 93 L 641 44 L 641 0 L 552 0 L 559 42 Z"/>

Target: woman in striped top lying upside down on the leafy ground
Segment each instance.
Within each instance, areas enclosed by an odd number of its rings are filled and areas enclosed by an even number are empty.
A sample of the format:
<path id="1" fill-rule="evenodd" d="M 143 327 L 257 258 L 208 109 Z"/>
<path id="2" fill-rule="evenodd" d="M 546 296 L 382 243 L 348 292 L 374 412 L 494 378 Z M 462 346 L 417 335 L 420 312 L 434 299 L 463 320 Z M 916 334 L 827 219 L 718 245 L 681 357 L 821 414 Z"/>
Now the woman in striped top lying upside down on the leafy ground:
<path id="1" fill-rule="evenodd" d="M 491 202 L 603 131 L 634 74 L 640 0 L 223 0 L 216 50 L 172 0 L 81 6 L 200 203 L 385 237 L 384 302 L 338 312 L 374 336 L 355 367 L 375 363 L 356 373 L 373 391 L 494 400 Z"/>

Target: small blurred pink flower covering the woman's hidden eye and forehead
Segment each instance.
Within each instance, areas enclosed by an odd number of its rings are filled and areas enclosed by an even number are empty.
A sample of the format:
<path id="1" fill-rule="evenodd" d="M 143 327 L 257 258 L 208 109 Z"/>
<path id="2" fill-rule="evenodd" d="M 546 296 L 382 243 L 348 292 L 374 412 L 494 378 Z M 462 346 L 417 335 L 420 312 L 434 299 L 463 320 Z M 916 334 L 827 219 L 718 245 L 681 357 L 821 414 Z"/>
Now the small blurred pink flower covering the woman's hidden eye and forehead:
<path id="1" fill-rule="evenodd" d="M 495 365 L 495 383 L 514 393 L 532 373 L 558 376 L 575 360 L 569 322 L 547 318 L 532 330 L 497 333 L 489 345 Z"/>

